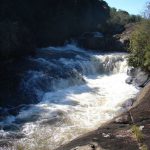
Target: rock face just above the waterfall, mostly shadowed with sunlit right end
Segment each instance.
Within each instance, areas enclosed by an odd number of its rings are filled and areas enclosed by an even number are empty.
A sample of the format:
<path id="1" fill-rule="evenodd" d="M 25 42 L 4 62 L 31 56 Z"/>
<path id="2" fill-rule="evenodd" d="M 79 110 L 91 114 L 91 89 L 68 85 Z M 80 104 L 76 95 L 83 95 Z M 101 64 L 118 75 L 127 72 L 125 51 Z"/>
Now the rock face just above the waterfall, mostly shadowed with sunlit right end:
<path id="1" fill-rule="evenodd" d="M 96 36 L 96 32 L 85 33 L 78 38 L 78 43 L 81 47 L 92 50 L 127 51 L 130 43 L 129 39 L 132 31 L 134 31 L 134 27 L 135 24 L 128 24 L 121 34 L 111 36 L 102 35 L 100 33 L 100 36 Z"/>

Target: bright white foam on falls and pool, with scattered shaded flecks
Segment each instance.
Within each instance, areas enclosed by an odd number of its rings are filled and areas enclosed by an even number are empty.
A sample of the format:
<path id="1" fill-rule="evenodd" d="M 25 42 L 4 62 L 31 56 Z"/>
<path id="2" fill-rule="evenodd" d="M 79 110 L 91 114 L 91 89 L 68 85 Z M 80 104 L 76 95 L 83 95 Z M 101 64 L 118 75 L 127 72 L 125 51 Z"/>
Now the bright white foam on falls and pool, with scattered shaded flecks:
<path id="1" fill-rule="evenodd" d="M 76 56 L 79 60 L 58 59 L 63 66 L 72 67 L 75 70 L 72 71 L 73 75 L 82 76 L 85 82 L 79 84 L 79 78 L 75 78 L 69 84 L 72 78 L 59 78 L 53 82 L 55 90 L 42 92 L 38 104 L 20 111 L 15 118 L 7 118 L 7 124 L 19 122 L 20 132 L 25 135 L 25 138 L 14 142 L 13 149 L 21 145 L 25 150 L 53 150 L 126 111 L 122 104 L 138 92 L 135 87 L 125 83 L 126 54 L 89 55 L 89 60 L 80 55 Z M 49 64 L 43 59 L 37 60 Z M 82 68 L 81 72 L 74 67 L 75 64 Z M 32 74 L 26 86 L 31 85 L 31 81 L 36 82 L 39 77 L 45 77 L 43 72 Z M 7 136 L 3 130 L 0 134 Z"/>

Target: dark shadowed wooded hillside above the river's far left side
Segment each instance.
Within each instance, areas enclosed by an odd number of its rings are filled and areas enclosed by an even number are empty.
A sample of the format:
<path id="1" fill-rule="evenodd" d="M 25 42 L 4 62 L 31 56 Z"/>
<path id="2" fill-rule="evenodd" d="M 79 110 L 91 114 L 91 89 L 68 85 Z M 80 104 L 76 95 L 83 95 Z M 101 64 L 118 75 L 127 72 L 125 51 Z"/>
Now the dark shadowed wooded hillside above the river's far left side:
<path id="1" fill-rule="evenodd" d="M 31 53 L 97 30 L 109 17 L 103 0 L 0 0 L 0 57 Z"/>

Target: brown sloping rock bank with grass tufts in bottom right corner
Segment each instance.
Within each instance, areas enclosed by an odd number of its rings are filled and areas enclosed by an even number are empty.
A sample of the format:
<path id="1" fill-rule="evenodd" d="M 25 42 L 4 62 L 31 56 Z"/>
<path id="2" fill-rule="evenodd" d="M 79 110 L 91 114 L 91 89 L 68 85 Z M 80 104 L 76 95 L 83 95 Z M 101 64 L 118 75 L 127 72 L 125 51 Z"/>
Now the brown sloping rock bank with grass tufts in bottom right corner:
<path id="1" fill-rule="evenodd" d="M 126 113 L 57 150 L 149 150 L 149 141 L 150 83 Z"/>

